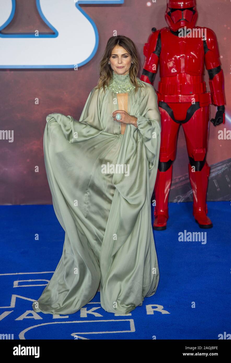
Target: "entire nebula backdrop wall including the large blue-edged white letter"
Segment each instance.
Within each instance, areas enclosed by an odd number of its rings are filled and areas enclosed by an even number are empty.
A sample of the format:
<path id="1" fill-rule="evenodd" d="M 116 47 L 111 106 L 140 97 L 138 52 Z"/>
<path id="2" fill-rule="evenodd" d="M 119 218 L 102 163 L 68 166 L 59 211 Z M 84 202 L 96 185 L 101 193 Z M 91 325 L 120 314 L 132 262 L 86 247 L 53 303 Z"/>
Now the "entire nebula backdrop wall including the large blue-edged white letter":
<path id="1" fill-rule="evenodd" d="M 165 22 L 166 0 L 0 0 L 0 204 L 51 204 L 43 135 L 46 115 L 79 119 L 113 35 L 139 52 Z M 225 77 L 226 122 L 210 123 L 207 200 L 231 200 L 231 2 L 197 0 L 198 26 L 216 33 Z M 159 72 L 154 81 L 158 88 Z M 209 77 L 205 73 L 207 91 Z M 216 107 L 211 106 L 211 117 Z M 180 128 L 170 201 L 193 199 Z"/>

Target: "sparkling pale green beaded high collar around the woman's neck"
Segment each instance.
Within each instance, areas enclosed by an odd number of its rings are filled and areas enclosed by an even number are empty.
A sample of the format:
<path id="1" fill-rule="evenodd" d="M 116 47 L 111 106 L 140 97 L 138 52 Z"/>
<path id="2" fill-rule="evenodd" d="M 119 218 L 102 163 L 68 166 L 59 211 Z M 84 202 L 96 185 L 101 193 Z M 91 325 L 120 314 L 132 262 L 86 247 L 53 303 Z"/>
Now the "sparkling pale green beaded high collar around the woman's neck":
<path id="1" fill-rule="evenodd" d="M 141 80 L 137 78 L 137 82 L 139 85 L 142 84 Z M 130 81 L 130 75 L 128 74 L 121 75 L 116 74 L 114 70 L 112 71 L 112 78 L 110 79 L 108 88 L 115 93 L 127 93 L 134 90 L 136 87 Z"/>

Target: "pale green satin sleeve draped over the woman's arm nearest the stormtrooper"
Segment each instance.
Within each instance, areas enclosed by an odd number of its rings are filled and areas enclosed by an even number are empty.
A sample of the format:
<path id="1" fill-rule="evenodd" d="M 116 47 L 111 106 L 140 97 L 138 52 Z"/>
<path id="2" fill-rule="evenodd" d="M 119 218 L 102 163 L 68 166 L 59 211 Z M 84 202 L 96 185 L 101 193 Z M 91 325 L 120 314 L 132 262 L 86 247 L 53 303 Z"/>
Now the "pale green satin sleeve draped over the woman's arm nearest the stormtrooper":
<path id="1" fill-rule="evenodd" d="M 152 169 L 160 153 L 161 117 L 156 91 L 149 83 L 145 83 L 145 97 L 140 103 L 139 110 L 142 112 L 138 111 L 135 115 L 137 128 L 145 146 L 149 169 Z"/>

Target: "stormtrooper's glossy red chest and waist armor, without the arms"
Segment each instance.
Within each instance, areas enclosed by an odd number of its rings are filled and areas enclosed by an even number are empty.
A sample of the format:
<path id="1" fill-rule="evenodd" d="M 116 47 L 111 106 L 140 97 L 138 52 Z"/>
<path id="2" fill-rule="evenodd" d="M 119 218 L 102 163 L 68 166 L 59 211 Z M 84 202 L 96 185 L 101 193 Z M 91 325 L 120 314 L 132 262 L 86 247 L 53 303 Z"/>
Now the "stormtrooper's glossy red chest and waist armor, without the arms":
<path id="1" fill-rule="evenodd" d="M 164 102 L 211 103 L 203 75 L 205 51 L 203 38 L 179 37 L 170 29 L 161 29 L 160 82 L 158 100 Z M 203 34 L 202 34 L 203 35 Z"/>

